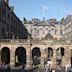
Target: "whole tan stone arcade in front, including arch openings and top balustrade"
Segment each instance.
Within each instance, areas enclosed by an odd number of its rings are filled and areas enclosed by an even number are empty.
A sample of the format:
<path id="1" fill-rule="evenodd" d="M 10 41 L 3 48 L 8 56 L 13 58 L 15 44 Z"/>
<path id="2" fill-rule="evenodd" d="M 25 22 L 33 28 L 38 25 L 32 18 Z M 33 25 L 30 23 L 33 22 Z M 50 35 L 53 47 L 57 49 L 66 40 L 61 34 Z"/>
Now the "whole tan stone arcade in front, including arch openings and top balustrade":
<path id="1" fill-rule="evenodd" d="M 64 67 L 72 63 L 72 43 L 66 40 L 0 40 L 0 64 L 11 67 L 24 66 L 44 68 L 48 62 L 52 66 Z"/>

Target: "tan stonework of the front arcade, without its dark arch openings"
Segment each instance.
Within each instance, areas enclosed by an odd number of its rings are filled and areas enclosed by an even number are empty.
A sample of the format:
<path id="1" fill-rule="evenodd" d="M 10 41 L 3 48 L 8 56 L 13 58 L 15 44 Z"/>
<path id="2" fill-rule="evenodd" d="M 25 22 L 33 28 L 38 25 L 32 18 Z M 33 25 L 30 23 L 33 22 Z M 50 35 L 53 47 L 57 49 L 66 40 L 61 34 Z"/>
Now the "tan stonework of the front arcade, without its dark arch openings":
<path id="1" fill-rule="evenodd" d="M 52 64 L 56 66 L 56 50 L 60 47 L 64 48 L 64 56 L 62 57 L 62 66 L 71 64 L 71 50 L 72 44 L 69 41 L 53 41 L 53 40 L 8 40 L 8 42 L 0 42 L 0 57 L 1 50 L 7 47 L 10 50 L 10 66 L 15 66 L 15 51 L 18 47 L 23 47 L 26 50 L 26 68 L 32 68 L 32 50 L 38 47 L 41 52 L 41 62 L 39 66 L 44 67 L 45 49 L 51 47 L 53 49 L 53 57 L 51 58 Z M 1 58 L 0 58 L 1 63 Z"/>

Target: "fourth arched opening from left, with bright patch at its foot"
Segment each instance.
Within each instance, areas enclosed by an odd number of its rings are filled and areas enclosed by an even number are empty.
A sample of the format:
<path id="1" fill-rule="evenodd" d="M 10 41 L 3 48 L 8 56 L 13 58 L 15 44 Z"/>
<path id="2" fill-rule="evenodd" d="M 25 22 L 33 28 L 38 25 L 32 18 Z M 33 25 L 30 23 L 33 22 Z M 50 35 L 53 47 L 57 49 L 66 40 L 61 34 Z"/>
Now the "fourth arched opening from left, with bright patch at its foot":
<path id="1" fill-rule="evenodd" d="M 52 57 L 53 57 L 53 49 L 51 47 L 48 47 L 45 49 L 46 58 L 44 60 L 44 64 L 48 64 L 49 62 L 52 63 Z"/>

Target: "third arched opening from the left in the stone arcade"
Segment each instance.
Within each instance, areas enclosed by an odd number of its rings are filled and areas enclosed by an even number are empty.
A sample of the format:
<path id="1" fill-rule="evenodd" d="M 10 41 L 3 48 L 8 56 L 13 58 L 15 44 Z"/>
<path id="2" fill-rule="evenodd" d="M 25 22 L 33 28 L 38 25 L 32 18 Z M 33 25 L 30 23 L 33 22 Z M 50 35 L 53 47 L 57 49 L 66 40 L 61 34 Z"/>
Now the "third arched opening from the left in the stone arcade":
<path id="1" fill-rule="evenodd" d="M 32 50 L 32 60 L 33 60 L 34 66 L 40 64 L 40 56 L 41 56 L 40 49 L 38 47 L 33 48 L 33 50 Z"/>

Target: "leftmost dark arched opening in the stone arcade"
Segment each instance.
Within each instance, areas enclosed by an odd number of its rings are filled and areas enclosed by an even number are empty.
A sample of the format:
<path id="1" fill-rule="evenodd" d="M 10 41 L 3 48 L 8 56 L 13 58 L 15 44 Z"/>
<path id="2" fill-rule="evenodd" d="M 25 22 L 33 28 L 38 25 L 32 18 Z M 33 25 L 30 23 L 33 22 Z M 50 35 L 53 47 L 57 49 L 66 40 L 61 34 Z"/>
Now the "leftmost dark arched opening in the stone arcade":
<path id="1" fill-rule="evenodd" d="M 1 62 L 2 64 L 10 63 L 10 50 L 7 47 L 2 48 L 1 50 Z"/>

